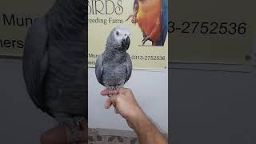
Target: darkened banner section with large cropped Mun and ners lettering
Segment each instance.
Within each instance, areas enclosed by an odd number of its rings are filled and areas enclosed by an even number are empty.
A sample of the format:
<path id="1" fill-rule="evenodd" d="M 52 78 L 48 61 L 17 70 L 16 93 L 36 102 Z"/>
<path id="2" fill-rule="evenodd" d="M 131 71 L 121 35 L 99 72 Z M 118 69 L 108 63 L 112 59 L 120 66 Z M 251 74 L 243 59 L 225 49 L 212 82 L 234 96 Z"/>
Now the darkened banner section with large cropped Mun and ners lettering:
<path id="1" fill-rule="evenodd" d="M 22 57 L 26 32 L 54 0 L 4 0 L 0 5 L 0 57 Z"/>

